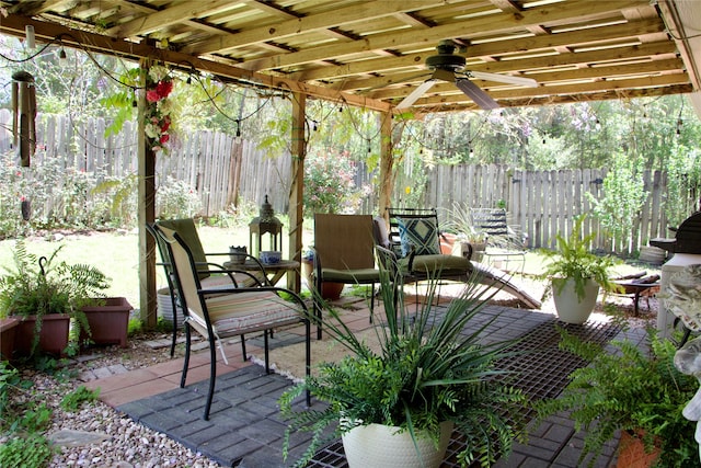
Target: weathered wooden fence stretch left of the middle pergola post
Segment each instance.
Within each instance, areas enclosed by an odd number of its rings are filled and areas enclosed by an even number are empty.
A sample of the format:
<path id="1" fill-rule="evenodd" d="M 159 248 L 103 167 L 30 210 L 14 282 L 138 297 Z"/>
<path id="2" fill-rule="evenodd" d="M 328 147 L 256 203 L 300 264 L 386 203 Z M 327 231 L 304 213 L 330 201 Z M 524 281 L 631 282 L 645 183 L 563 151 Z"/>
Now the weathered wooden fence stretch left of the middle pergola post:
<path id="1" fill-rule="evenodd" d="M 51 159 L 59 170 L 72 169 L 105 178 L 126 178 L 137 173 L 138 134 L 126 122 L 118 135 L 105 137 L 106 123 L 93 118 L 81 123 L 66 115 L 39 115 L 36 119 L 37 150 L 33 164 Z M 0 110 L 0 151 L 12 149 L 12 121 L 8 110 Z M 234 199 L 260 205 L 267 194 L 276 212 L 286 212 L 290 180 L 289 156 L 269 158 L 248 140 L 215 132 L 180 134 L 169 144 L 169 155 L 156 159 L 156 187 L 168 178 L 193 187 L 202 203 L 203 216 L 214 216 Z M 46 213 L 49 204 L 34 207 Z M 58 203 L 58 202 L 57 202 Z M 41 213 L 36 213 L 41 215 Z"/>

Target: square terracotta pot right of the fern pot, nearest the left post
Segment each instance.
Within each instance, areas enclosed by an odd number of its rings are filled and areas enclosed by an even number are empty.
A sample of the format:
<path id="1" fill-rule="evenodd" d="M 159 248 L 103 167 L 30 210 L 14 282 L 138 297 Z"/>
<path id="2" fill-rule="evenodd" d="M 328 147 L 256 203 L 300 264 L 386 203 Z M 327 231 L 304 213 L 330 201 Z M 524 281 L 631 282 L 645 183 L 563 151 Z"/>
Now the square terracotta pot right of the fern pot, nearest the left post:
<path id="1" fill-rule="evenodd" d="M 124 297 L 107 297 L 103 300 L 102 306 L 83 307 L 91 336 L 81 330 L 80 342 L 90 339 L 95 344 L 118 344 L 126 347 L 129 312 L 134 307 Z"/>

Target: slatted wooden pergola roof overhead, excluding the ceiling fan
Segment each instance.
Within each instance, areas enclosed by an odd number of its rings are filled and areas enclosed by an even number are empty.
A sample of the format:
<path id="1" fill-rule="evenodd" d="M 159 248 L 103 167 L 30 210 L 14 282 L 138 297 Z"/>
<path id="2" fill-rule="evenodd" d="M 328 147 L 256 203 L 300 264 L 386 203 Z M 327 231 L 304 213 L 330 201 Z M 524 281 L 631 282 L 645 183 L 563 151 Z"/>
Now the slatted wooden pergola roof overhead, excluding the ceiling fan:
<path id="1" fill-rule="evenodd" d="M 424 60 L 451 39 L 469 70 L 536 79 L 474 80 L 501 106 L 525 106 L 698 90 L 693 1 L 11 0 L 0 1 L 0 32 L 24 36 L 31 24 L 38 42 L 378 111 L 426 80 Z M 452 82 L 412 107 L 476 109 Z"/>

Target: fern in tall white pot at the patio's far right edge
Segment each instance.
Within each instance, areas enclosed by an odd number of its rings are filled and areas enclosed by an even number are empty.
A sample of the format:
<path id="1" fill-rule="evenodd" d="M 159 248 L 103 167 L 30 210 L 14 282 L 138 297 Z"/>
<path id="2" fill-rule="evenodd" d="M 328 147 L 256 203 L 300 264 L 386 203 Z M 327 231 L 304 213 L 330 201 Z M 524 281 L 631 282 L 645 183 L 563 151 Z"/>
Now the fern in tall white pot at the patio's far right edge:
<path id="1" fill-rule="evenodd" d="M 549 263 L 541 278 L 550 279 L 545 295 L 552 292 L 560 320 L 567 323 L 584 323 L 589 318 L 599 287 L 614 292 L 618 286 L 609 278 L 609 270 L 618 263 L 610 255 L 597 255 L 589 250 L 596 233 L 582 237 L 586 215 L 576 217 L 566 239 L 558 233 L 556 250 L 542 249 Z"/>

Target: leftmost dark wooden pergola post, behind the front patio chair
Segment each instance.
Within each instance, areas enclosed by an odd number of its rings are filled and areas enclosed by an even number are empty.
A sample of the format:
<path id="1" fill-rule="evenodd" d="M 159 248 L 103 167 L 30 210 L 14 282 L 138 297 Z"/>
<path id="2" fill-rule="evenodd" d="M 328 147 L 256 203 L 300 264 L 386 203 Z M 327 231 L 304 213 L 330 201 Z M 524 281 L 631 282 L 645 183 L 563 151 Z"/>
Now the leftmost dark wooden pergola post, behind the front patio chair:
<path id="1" fill-rule="evenodd" d="M 140 61 L 140 67 L 146 72 L 141 77 L 141 89 L 146 89 L 146 76 L 151 62 L 148 59 Z M 146 224 L 156 220 L 156 155 L 149 147 L 143 114 L 146 112 L 146 93 L 138 93 L 138 222 L 139 222 L 139 307 L 140 318 L 146 328 L 156 328 L 157 299 L 156 299 L 156 243 L 154 239 L 146 231 Z"/>

